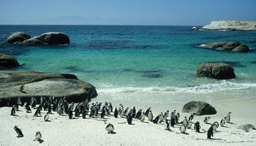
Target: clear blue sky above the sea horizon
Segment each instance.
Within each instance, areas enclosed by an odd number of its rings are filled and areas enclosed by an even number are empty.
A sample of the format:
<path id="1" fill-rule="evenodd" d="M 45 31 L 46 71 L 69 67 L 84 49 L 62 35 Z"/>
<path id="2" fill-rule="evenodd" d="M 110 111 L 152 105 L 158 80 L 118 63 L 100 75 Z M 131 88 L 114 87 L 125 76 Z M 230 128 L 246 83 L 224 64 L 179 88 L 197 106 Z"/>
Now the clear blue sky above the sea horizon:
<path id="1" fill-rule="evenodd" d="M 256 21 L 256 0 L 0 0 L 0 24 L 205 26 Z"/>

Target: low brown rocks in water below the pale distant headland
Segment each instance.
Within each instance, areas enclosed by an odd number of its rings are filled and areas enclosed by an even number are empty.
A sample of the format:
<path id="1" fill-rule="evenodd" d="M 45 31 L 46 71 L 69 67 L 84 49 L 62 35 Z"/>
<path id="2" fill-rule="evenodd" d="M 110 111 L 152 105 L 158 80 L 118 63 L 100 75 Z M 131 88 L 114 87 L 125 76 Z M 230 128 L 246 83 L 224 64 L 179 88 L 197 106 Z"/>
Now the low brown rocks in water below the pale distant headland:
<path id="1" fill-rule="evenodd" d="M 250 48 L 248 46 L 241 45 L 241 43 L 237 41 L 208 43 L 202 47 L 216 50 L 231 50 L 234 52 L 250 52 Z"/>

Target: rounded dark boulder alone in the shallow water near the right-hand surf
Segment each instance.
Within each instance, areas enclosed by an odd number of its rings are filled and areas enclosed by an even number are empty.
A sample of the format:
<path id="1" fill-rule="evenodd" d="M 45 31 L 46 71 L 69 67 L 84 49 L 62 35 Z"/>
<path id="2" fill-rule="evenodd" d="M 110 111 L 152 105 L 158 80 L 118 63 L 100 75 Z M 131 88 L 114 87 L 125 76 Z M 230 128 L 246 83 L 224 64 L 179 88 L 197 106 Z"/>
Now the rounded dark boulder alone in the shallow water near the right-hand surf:
<path id="1" fill-rule="evenodd" d="M 197 69 L 196 77 L 212 77 L 216 79 L 236 78 L 234 68 L 225 63 L 202 63 Z"/>

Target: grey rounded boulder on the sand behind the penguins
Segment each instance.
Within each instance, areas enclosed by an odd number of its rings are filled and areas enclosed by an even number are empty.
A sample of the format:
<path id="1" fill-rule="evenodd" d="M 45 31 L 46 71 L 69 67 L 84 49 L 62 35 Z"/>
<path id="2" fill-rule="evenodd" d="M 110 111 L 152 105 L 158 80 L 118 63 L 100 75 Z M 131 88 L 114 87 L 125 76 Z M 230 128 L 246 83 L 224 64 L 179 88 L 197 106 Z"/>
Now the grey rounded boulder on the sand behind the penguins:
<path id="1" fill-rule="evenodd" d="M 213 115 L 217 113 L 213 106 L 204 101 L 190 101 L 183 106 L 182 112 L 196 113 L 196 115 Z"/>

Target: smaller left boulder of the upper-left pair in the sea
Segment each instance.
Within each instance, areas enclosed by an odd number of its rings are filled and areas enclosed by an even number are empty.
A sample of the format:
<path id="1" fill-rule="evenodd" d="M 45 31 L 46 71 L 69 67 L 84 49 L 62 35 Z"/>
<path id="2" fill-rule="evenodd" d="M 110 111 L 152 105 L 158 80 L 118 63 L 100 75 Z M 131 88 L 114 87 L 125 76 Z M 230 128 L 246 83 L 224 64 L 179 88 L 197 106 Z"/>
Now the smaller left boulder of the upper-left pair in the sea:
<path id="1" fill-rule="evenodd" d="M 24 40 L 28 40 L 31 38 L 29 34 L 17 32 L 13 33 L 11 36 L 9 36 L 5 41 L 4 44 L 12 44 L 12 43 L 21 43 Z"/>

